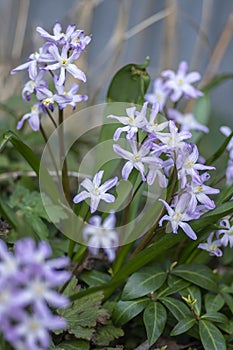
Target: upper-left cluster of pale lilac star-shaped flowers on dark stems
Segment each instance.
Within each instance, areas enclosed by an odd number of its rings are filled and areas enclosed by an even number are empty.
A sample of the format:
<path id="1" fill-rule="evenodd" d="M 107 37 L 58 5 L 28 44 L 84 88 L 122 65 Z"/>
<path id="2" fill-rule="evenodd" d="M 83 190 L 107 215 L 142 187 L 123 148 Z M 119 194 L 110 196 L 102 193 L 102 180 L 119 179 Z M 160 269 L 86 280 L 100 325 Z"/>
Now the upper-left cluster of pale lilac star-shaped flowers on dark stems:
<path id="1" fill-rule="evenodd" d="M 61 110 L 68 105 L 75 108 L 77 102 L 87 100 L 86 95 L 77 94 L 78 84 L 66 88 L 65 82 L 67 73 L 75 79 L 86 81 L 85 74 L 77 67 L 75 61 L 91 41 L 91 37 L 85 36 L 84 31 L 76 29 L 75 25 L 69 25 L 64 33 L 57 22 L 53 27 L 53 35 L 41 27 L 37 27 L 36 30 L 46 42 L 29 56 L 28 62 L 11 71 L 12 74 L 25 69 L 28 71 L 30 80 L 24 85 L 22 98 L 29 101 L 34 94 L 37 102 L 31 107 L 31 112 L 20 120 L 17 129 L 27 120 L 34 131 L 40 128 L 41 113 L 53 111 L 55 105 Z M 52 90 L 45 79 L 47 72 L 53 76 Z"/>

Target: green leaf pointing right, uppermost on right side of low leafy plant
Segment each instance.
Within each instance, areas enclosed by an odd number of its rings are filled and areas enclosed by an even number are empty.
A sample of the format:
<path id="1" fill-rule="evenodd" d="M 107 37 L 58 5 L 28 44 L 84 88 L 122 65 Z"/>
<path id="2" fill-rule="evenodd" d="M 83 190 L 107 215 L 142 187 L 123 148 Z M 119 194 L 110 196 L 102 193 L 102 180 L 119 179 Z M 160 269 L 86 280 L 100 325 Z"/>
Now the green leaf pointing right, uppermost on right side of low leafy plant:
<path id="1" fill-rule="evenodd" d="M 212 270 L 201 264 L 184 264 L 175 267 L 172 274 L 192 282 L 204 289 L 216 292 L 218 290 L 216 276 Z"/>

